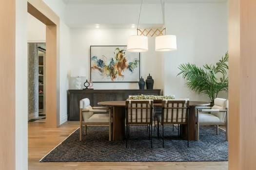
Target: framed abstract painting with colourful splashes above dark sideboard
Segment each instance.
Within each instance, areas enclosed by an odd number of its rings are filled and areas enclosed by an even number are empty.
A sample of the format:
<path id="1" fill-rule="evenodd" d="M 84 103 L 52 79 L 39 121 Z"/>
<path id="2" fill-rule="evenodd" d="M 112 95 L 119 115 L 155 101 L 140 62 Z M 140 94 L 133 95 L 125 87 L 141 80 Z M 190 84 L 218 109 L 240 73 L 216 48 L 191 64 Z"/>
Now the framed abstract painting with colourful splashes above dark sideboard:
<path id="1" fill-rule="evenodd" d="M 140 53 L 127 46 L 91 46 L 91 81 L 95 83 L 138 82 Z"/>

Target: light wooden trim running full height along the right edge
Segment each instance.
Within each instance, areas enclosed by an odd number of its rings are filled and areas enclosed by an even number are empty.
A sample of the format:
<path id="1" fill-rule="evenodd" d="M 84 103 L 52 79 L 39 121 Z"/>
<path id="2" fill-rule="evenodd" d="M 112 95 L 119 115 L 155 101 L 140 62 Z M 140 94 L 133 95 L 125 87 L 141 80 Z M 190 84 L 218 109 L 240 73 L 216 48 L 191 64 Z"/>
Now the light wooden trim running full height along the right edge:
<path id="1" fill-rule="evenodd" d="M 229 0 L 229 170 L 256 169 L 256 0 Z"/>

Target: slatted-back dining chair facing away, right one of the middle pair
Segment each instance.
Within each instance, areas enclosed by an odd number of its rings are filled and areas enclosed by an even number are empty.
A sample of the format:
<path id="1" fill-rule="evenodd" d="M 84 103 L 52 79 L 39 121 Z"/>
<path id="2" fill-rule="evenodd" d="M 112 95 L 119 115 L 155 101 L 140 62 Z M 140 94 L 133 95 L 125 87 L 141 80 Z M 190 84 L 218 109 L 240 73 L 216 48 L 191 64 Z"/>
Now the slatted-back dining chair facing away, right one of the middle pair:
<path id="1" fill-rule="evenodd" d="M 162 101 L 162 112 L 157 114 L 158 136 L 159 123 L 162 125 L 162 145 L 164 147 L 164 125 L 184 125 L 187 124 L 187 141 L 189 147 L 189 99 L 170 99 Z"/>

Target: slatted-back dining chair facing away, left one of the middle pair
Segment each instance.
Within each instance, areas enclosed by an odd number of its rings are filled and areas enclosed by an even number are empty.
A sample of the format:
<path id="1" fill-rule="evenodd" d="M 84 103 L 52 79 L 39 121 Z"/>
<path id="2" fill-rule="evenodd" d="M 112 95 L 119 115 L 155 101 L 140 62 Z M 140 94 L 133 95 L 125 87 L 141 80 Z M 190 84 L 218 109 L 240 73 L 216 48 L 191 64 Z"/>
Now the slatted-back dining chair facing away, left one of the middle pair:
<path id="1" fill-rule="evenodd" d="M 146 125 L 151 139 L 152 148 L 152 122 L 153 100 L 127 100 L 125 102 L 126 122 L 126 148 L 130 137 L 130 125 Z M 149 128 L 148 128 L 149 127 Z"/>

